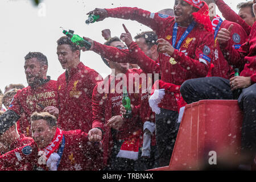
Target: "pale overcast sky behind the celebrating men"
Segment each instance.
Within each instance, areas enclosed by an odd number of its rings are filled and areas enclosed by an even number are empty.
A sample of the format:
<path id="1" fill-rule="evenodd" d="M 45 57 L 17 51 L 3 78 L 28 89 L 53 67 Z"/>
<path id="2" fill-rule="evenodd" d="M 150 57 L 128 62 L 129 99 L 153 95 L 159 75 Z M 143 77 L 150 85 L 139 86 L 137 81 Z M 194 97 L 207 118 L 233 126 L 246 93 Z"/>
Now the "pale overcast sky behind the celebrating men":
<path id="1" fill-rule="evenodd" d="M 225 0 L 238 12 L 238 0 Z M 114 8 L 120 6 L 138 7 L 151 12 L 174 7 L 173 1 L 121 1 L 121 0 L 43 0 L 40 6 L 34 6 L 30 0 L 1 0 L 0 1 L 0 89 L 11 83 L 27 86 L 24 74 L 24 56 L 28 52 L 42 52 L 48 59 L 48 76 L 52 80 L 64 72 L 56 55 L 56 40 L 62 34 L 60 27 L 74 30 L 75 34 L 87 36 L 97 42 L 104 43 L 101 30 L 109 28 L 112 36 L 120 36 L 124 32 L 125 23 L 131 35 L 151 30 L 140 23 L 131 20 L 107 18 L 93 24 L 85 24 L 88 13 L 98 8 Z M 221 15 L 217 10 L 217 14 Z M 222 16 L 221 16 L 222 17 Z M 101 57 L 92 51 L 81 52 L 81 61 L 86 66 L 96 70 L 102 77 L 110 74 L 110 69 Z"/>

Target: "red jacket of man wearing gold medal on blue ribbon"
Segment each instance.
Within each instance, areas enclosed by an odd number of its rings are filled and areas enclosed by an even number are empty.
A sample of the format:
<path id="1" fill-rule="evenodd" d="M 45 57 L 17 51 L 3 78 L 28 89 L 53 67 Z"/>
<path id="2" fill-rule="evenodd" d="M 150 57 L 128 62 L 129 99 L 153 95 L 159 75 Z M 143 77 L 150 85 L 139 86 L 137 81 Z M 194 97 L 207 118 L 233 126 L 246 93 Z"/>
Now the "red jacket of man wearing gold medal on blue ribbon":
<path id="1" fill-rule="evenodd" d="M 172 32 L 175 23 L 174 17 L 164 16 L 158 13 L 150 13 L 138 8 L 119 7 L 106 9 L 108 15 L 113 18 L 123 18 L 137 20 L 139 23 L 151 27 L 156 32 L 158 38 L 166 39 L 172 44 Z M 179 27 L 177 40 L 187 28 Z M 175 49 L 174 55 L 176 64 L 170 63 L 171 56 L 160 53 L 160 74 L 164 82 L 181 85 L 185 80 L 207 76 L 210 61 L 213 58 L 213 34 L 205 31 L 200 24 L 188 34 L 181 44 L 179 50 Z M 162 100 L 160 107 L 169 110 L 178 110 L 177 103 L 169 100 Z"/>

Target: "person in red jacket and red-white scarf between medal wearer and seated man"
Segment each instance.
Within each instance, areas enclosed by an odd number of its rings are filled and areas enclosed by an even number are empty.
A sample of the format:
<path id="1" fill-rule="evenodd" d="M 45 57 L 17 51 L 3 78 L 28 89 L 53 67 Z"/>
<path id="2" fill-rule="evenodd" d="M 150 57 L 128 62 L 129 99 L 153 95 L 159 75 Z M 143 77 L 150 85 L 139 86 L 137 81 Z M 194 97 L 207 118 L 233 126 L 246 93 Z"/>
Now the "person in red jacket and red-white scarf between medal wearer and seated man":
<path id="1" fill-rule="evenodd" d="M 232 24 L 231 36 L 232 39 L 229 40 L 228 46 L 239 49 L 240 46 L 245 43 L 247 39 L 247 34 L 243 28 L 234 22 L 229 22 L 228 20 L 222 20 L 220 16 L 216 14 L 216 5 L 214 0 L 205 0 L 209 6 L 210 10 L 210 20 L 212 21 L 213 32 L 214 32 L 214 57 L 213 57 L 213 68 L 209 71 L 208 76 L 217 76 L 222 78 L 231 78 L 234 76 L 233 65 L 229 65 L 226 61 L 225 56 L 221 52 L 220 45 L 217 41 L 217 34 L 221 28 L 228 29 Z M 242 70 L 242 68 L 240 68 Z"/>

